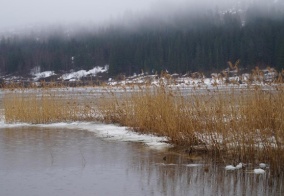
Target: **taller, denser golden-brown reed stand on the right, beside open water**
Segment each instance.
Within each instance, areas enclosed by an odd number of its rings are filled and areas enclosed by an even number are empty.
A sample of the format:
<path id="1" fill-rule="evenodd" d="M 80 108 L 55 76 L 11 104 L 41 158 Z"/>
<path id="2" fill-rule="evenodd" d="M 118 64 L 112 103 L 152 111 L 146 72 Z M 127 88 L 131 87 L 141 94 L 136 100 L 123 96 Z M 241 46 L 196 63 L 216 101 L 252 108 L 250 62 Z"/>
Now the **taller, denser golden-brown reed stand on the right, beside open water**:
<path id="1" fill-rule="evenodd" d="M 179 146 L 204 146 L 227 152 L 233 161 L 284 164 L 284 87 L 198 90 L 184 96 L 165 86 L 141 88 L 130 96 L 104 99 L 105 122 L 119 123 L 141 133 L 167 136 Z M 277 163 L 277 164 L 276 164 Z"/>

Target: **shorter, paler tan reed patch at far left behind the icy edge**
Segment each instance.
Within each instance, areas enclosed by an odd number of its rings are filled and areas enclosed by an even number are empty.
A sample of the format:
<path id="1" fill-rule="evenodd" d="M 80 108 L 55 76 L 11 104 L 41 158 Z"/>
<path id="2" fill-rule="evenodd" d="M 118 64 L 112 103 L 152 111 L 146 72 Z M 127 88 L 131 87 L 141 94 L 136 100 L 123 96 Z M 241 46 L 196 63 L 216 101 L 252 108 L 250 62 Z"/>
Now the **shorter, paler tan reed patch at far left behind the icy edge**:
<path id="1" fill-rule="evenodd" d="M 3 105 L 7 123 L 39 124 L 90 120 L 93 119 L 94 112 L 88 104 L 81 104 L 76 95 L 66 96 L 63 92 L 46 89 L 7 92 Z"/>

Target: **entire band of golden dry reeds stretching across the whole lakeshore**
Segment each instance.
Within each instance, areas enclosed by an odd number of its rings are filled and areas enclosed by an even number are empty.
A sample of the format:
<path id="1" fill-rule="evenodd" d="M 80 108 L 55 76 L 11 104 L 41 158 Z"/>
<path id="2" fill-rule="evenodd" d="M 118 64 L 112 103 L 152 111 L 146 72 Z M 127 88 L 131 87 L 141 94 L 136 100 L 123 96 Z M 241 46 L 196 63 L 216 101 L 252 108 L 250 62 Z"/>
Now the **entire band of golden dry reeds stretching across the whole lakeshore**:
<path id="1" fill-rule="evenodd" d="M 163 85 L 120 93 L 109 88 L 96 101 L 51 89 L 20 90 L 5 93 L 3 105 L 8 123 L 118 123 L 140 133 L 166 136 L 188 149 L 203 146 L 235 162 L 268 162 L 279 171 L 284 168 L 284 87 L 269 88 L 217 86 L 197 88 L 188 95 Z"/>

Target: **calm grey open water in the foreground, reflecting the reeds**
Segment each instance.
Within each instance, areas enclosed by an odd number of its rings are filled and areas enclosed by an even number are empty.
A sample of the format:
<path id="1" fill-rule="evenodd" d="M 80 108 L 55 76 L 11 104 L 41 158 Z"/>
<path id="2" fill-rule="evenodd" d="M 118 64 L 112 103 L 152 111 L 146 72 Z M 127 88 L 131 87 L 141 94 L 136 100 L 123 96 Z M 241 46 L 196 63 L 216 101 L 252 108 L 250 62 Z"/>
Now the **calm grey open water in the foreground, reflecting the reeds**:
<path id="1" fill-rule="evenodd" d="M 83 130 L 0 129 L 1 195 L 281 195 L 281 177 L 249 171 Z"/>

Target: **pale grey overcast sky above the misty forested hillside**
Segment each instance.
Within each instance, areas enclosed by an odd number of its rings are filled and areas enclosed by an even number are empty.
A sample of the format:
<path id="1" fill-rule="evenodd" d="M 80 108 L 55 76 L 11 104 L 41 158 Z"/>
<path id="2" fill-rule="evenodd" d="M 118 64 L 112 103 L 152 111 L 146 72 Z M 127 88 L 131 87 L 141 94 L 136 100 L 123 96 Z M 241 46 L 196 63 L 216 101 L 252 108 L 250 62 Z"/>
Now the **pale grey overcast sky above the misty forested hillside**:
<path id="1" fill-rule="evenodd" d="M 187 5 L 191 2 L 192 7 L 198 4 L 228 4 L 233 1 L 253 0 L 2 0 L 0 30 L 35 24 L 102 23 L 116 20 L 125 13 L 132 13 L 128 15 L 135 16 L 147 13 L 151 9 L 182 7 L 184 2 L 187 2 Z"/>

